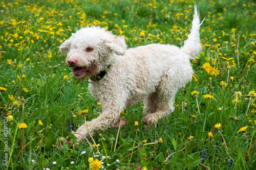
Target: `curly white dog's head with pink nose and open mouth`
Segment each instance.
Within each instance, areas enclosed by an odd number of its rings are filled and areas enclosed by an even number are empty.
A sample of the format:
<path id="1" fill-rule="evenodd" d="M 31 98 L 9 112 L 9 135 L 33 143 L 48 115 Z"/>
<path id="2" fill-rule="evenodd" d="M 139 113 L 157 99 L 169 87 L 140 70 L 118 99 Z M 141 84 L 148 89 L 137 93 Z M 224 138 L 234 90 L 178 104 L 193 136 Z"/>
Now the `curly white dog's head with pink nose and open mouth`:
<path id="1" fill-rule="evenodd" d="M 109 65 L 115 55 L 123 55 L 127 49 L 123 36 L 113 35 L 104 28 L 85 27 L 62 43 L 59 52 L 67 55 L 66 65 L 74 67 L 76 79 L 96 75 Z"/>

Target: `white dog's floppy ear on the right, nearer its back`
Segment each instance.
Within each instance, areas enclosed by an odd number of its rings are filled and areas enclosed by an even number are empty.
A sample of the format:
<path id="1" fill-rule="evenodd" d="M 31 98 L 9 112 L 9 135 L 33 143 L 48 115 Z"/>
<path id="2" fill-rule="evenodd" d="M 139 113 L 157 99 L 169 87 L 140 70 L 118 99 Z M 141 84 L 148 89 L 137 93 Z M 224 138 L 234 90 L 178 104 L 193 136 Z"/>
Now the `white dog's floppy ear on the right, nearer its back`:
<path id="1" fill-rule="evenodd" d="M 117 55 L 124 55 L 127 50 L 123 36 L 112 35 L 110 39 L 104 42 L 104 45 L 110 49 L 111 53 L 116 53 Z"/>

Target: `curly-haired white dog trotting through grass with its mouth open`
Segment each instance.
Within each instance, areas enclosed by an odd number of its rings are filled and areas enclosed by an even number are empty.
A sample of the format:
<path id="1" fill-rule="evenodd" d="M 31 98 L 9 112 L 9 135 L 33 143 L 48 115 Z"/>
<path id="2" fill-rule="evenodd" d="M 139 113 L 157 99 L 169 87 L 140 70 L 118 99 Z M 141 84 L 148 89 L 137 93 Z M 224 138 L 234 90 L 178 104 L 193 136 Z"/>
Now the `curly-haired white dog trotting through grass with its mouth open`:
<path id="1" fill-rule="evenodd" d="M 99 27 L 82 28 L 62 43 L 59 51 L 67 55 L 67 66 L 74 67 L 77 80 L 88 78 L 91 94 L 102 105 L 102 114 L 87 122 L 90 133 L 117 127 L 120 112 L 141 101 L 145 124 L 156 124 L 172 113 L 177 90 L 192 79 L 190 59 L 201 50 L 201 24 L 195 6 L 192 28 L 181 48 L 150 44 L 127 50 L 123 36 Z M 89 135 L 86 124 L 76 132 Z M 81 135 L 75 136 L 82 141 Z"/>

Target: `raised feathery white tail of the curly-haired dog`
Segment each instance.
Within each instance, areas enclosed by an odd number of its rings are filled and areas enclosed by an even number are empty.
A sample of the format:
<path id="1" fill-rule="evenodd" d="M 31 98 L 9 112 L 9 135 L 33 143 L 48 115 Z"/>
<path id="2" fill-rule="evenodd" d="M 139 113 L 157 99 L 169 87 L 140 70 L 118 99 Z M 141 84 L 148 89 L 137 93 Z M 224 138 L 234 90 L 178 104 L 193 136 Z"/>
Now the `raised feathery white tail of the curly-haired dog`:
<path id="1" fill-rule="evenodd" d="M 189 55 L 191 58 L 195 58 L 202 48 L 200 43 L 199 29 L 203 21 L 204 19 L 200 22 L 197 6 L 195 5 L 195 14 L 192 21 L 190 34 L 187 36 L 187 40 L 184 41 L 184 45 L 181 47 L 181 51 Z"/>

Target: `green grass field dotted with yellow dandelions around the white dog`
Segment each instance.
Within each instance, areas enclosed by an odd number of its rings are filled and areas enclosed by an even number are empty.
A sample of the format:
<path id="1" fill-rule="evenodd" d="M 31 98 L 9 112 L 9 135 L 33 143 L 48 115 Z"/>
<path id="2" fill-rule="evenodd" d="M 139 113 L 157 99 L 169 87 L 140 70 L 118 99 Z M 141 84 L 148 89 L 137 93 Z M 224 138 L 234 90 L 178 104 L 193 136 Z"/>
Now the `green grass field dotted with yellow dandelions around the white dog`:
<path id="1" fill-rule="evenodd" d="M 60 44 L 94 25 L 125 36 L 128 47 L 180 47 L 194 2 L 1 1 L 1 169 L 254 169 L 256 2 L 196 4 L 205 17 L 203 48 L 172 115 L 145 128 L 140 103 L 121 113 L 127 126 L 70 149 L 71 131 L 98 116 L 101 106 L 86 81 L 74 80 Z"/>

